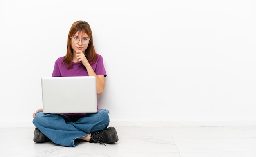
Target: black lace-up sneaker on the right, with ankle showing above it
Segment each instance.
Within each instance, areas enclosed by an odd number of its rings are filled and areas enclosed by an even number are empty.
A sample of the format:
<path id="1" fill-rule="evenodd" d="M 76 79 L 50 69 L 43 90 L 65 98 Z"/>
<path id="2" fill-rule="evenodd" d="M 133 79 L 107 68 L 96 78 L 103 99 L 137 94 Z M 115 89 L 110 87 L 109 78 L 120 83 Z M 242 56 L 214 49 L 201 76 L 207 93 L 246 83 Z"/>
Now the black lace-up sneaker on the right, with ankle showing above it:
<path id="1" fill-rule="evenodd" d="M 118 141 L 117 131 L 114 127 L 91 133 L 90 143 L 111 144 Z M 105 145 L 105 144 L 104 144 Z"/>

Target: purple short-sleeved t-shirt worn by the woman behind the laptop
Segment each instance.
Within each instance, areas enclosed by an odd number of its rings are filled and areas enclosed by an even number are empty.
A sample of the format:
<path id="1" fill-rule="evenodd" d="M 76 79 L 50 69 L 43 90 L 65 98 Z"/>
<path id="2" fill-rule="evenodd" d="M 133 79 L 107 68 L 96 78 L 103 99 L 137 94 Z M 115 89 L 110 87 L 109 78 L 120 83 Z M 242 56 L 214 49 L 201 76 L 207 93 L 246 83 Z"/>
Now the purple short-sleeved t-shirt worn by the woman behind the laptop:
<path id="1" fill-rule="evenodd" d="M 97 54 L 98 59 L 95 64 L 91 65 L 92 69 L 96 73 L 96 75 L 104 75 L 107 76 L 105 67 L 103 64 L 103 58 L 101 55 Z M 73 68 L 67 69 L 67 65 L 65 63 L 62 63 L 64 57 L 60 57 L 55 61 L 54 69 L 52 72 L 52 77 L 60 77 L 60 76 L 89 76 L 88 72 L 86 71 L 85 67 L 82 63 L 74 63 L 73 62 Z M 98 108 L 98 107 L 97 107 Z M 78 119 L 80 117 L 84 117 L 86 113 L 65 113 L 67 117 L 70 117 L 71 119 Z"/>

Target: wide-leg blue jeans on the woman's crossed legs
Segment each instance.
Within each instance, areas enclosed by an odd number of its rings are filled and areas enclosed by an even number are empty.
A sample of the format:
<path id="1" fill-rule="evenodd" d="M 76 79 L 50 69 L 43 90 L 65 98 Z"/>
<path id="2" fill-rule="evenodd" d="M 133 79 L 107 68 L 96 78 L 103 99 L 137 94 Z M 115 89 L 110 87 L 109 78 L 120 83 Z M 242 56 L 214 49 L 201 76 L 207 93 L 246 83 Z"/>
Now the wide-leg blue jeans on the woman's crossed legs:
<path id="1" fill-rule="evenodd" d="M 36 113 L 33 123 L 55 144 L 76 147 L 82 141 L 77 139 L 89 133 L 104 130 L 109 124 L 109 111 L 100 109 L 97 113 L 87 113 L 76 122 L 63 115 Z"/>

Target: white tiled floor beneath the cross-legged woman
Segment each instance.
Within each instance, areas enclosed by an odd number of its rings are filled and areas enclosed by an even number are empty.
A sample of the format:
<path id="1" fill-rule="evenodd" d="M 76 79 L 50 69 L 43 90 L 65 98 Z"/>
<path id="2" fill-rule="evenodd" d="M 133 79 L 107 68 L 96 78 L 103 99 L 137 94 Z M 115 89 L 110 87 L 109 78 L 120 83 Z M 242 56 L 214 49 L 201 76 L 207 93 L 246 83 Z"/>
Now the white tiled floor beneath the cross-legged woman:
<path id="1" fill-rule="evenodd" d="M 0 128 L 0 157 L 256 157 L 256 127 L 116 127 L 115 144 L 34 143 L 34 128 Z"/>

